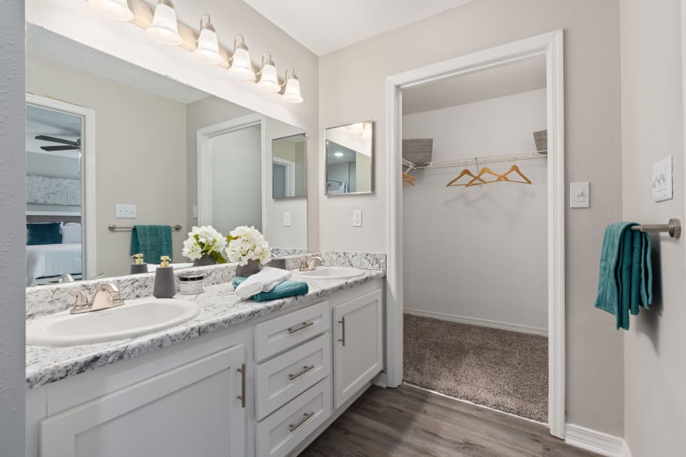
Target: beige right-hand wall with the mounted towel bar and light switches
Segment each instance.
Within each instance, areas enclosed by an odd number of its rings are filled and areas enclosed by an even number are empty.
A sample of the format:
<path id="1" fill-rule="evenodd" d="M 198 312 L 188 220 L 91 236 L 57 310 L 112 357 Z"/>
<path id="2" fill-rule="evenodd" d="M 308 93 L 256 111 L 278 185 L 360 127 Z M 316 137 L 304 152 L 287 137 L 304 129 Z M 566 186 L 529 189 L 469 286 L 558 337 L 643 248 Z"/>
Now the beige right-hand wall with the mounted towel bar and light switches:
<path id="1" fill-rule="evenodd" d="M 624 219 L 684 221 L 679 0 L 622 0 Z M 652 164 L 674 157 L 674 199 L 655 203 Z M 686 430 L 684 236 L 652 236 L 654 301 L 624 332 L 624 436 L 633 457 L 683 456 Z M 612 331 L 611 329 L 608 331 Z"/>

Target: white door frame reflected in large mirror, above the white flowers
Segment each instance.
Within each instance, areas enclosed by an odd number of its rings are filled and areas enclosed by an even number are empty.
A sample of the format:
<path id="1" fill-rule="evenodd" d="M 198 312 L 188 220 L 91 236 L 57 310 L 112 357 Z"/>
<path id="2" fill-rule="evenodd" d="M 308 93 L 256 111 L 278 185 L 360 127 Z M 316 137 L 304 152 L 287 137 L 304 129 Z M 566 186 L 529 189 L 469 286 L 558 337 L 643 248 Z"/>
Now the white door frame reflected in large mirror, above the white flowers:
<path id="1" fill-rule="evenodd" d="M 247 116 L 237 117 L 230 121 L 209 125 L 209 127 L 202 127 L 198 129 L 198 225 L 212 224 L 212 139 L 228 134 L 230 132 L 237 132 L 259 125 L 261 137 L 261 188 L 262 188 L 262 234 L 267 237 L 267 195 L 266 195 L 266 180 L 265 173 L 271 172 L 272 162 L 267 164 L 265 160 L 265 129 L 264 116 L 262 114 L 248 114 Z M 271 197 L 271 192 L 270 192 Z M 226 235 L 226 234 L 225 234 Z"/>

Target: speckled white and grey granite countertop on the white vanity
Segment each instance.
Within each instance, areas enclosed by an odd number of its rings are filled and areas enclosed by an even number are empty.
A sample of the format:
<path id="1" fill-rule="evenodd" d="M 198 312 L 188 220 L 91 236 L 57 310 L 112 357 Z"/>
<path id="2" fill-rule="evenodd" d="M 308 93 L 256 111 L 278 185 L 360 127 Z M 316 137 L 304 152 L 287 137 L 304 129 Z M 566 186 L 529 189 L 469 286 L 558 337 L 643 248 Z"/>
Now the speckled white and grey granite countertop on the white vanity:
<path id="1" fill-rule="evenodd" d="M 119 360 L 140 356 L 149 351 L 196 338 L 196 336 L 227 328 L 230 325 L 257 319 L 304 301 L 325 297 L 384 276 L 386 273 L 381 270 L 365 270 L 364 275 L 347 280 L 308 280 L 309 293 L 307 295 L 260 303 L 239 299 L 233 293 L 233 286 L 230 283 L 207 287 L 204 293 L 199 295 L 181 295 L 180 297 L 184 299 L 198 301 L 201 306 L 200 314 L 191 321 L 161 332 L 92 345 L 67 347 L 27 345 L 26 388 L 36 388 L 97 367 L 110 365 Z"/>

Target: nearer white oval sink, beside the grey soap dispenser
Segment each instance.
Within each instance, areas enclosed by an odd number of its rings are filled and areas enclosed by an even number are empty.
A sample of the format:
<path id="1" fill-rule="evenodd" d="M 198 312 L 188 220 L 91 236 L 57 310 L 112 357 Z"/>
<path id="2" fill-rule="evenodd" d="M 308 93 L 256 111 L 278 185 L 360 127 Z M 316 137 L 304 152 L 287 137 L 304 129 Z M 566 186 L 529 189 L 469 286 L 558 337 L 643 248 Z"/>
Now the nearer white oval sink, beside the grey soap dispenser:
<path id="1" fill-rule="evenodd" d="M 159 332 L 196 317 L 200 305 L 176 298 L 126 301 L 106 310 L 70 314 L 69 310 L 29 323 L 26 343 L 38 346 L 73 346 L 103 343 Z"/>

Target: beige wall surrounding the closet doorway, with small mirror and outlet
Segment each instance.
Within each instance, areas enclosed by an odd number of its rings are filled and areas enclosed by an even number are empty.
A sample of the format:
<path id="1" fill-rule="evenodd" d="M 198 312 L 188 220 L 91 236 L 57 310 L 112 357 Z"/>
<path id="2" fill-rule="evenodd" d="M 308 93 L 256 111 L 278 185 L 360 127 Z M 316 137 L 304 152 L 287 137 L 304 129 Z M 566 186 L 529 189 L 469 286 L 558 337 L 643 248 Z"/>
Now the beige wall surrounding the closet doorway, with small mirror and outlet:
<path id="1" fill-rule="evenodd" d="M 320 247 L 386 250 L 386 77 L 555 29 L 565 29 L 566 177 L 592 182 L 591 208 L 566 211 L 567 421 L 621 435 L 622 334 L 593 308 L 603 230 L 622 217 L 618 1 L 479 0 L 320 58 L 320 128 L 375 121 L 375 193 L 321 197 Z M 363 227 L 351 226 L 353 209 Z"/>

